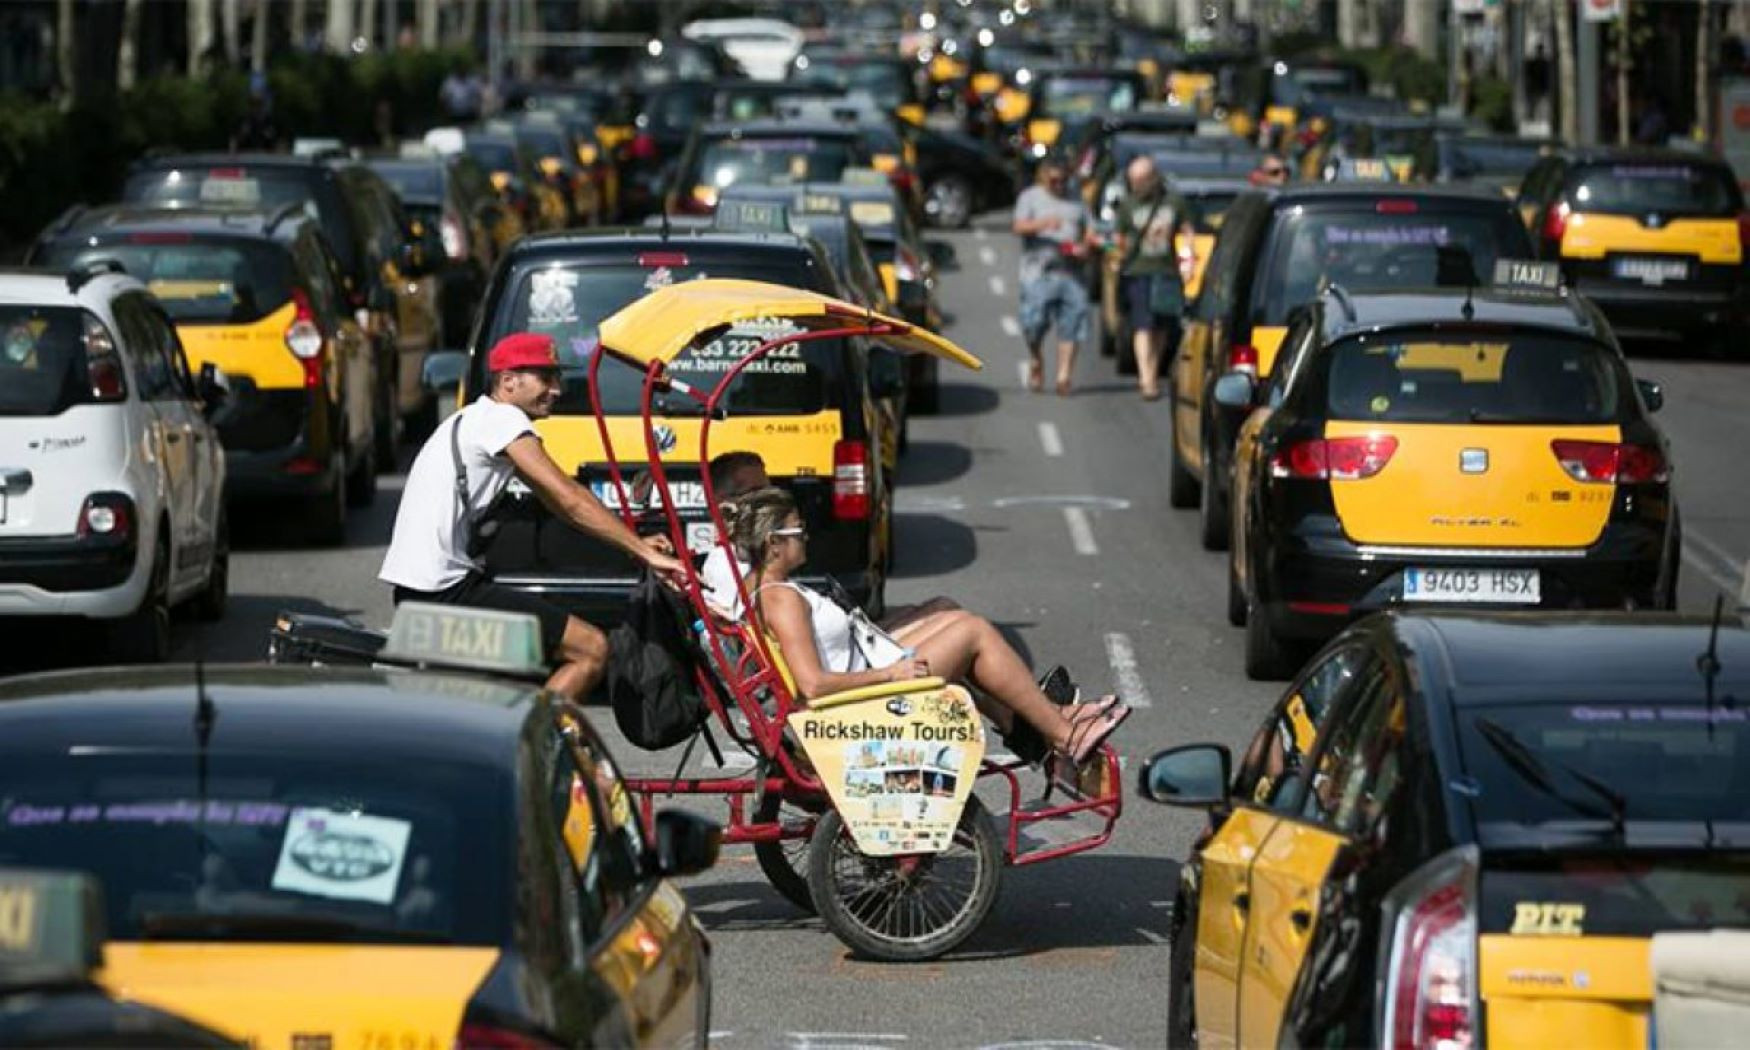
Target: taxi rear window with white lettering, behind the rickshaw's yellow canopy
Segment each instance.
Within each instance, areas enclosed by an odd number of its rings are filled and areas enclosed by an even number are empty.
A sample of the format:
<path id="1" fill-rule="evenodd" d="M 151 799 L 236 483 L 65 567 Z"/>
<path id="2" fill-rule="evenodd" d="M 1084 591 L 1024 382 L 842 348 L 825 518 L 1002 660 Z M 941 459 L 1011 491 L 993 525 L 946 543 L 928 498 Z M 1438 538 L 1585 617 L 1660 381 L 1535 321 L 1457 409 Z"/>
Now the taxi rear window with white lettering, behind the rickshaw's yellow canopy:
<path id="1" fill-rule="evenodd" d="M 586 416 L 590 415 L 588 366 L 597 346 L 597 326 L 649 290 L 702 276 L 765 280 L 793 287 L 812 284 L 805 273 L 775 270 L 770 261 L 542 266 L 527 270 L 511 282 L 509 294 L 499 303 L 486 345 L 522 331 L 553 336 L 565 369 L 565 388 L 553 406 L 553 415 Z M 688 350 L 670 362 L 668 371 L 686 383 L 709 390 L 742 354 L 777 331 L 770 326 L 737 326 L 723 338 Z M 836 402 L 844 352 L 844 343 L 838 340 L 779 348 L 737 376 L 730 387 L 730 413 L 812 415 L 828 408 Z M 606 413 L 639 411 L 640 374 L 623 364 L 604 362 L 600 380 Z M 698 413 L 698 404 L 679 394 L 658 396 L 656 406 L 665 415 Z"/>

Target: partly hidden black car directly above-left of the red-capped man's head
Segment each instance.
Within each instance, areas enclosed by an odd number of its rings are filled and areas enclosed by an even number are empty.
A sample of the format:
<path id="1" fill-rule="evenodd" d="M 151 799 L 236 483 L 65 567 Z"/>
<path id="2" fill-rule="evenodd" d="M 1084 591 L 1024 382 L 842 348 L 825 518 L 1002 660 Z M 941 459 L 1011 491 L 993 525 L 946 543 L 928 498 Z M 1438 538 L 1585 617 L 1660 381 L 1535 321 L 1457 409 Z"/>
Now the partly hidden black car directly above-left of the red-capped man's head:
<path id="1" fill-rule="evenodd" d="M 396 189 L 415 222 L 438 229 L 443 242 L 438 345 L 460 346 L 486 289 L 486 275 L 499 259 L 499 229 L 514 219 L 467 154 L 373 159 L 369 164 Z"/>

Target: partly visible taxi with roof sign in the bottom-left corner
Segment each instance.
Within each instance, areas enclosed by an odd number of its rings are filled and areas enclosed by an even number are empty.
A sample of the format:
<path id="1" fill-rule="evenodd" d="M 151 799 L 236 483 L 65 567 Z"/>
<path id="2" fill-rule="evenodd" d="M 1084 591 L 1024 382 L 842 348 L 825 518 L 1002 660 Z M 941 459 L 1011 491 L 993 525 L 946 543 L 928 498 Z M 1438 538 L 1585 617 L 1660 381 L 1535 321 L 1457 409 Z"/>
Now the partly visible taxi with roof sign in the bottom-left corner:
<path id="1" fill-rule="evenodd" d="M 0 1046 L 240 1046 L 91 980 L 103 968 L 102 892 L 77 872 L 0 868 Z"/>

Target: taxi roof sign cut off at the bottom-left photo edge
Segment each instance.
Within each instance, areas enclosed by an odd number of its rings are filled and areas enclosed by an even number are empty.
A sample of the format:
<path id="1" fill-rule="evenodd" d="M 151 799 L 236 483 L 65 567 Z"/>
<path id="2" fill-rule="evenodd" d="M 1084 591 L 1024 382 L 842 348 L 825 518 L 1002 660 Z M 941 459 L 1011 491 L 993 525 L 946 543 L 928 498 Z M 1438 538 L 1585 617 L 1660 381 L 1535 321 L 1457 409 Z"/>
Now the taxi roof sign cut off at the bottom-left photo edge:
<path id="1" fill-rule="evenodd" d="M 103 966 L 103 900 L 75 872 L 0 868 L 0 989 Z"/>

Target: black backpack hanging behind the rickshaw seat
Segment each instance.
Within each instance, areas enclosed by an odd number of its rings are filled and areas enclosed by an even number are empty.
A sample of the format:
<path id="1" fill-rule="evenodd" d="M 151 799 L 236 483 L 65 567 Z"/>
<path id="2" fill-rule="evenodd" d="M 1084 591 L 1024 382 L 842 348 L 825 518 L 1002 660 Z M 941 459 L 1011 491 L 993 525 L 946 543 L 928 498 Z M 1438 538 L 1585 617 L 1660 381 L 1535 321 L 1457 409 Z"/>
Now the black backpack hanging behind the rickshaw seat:
<path id="1" fill-rule="evenodd" d="M 632 584 L 625 623 L 607 635 L 607 702 L 620 732 L 637 747 L 674 747 L 710 712 L 693 676 L 691 621 L 686 598 L 646 569 Z"/>

